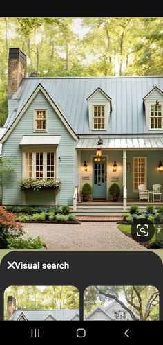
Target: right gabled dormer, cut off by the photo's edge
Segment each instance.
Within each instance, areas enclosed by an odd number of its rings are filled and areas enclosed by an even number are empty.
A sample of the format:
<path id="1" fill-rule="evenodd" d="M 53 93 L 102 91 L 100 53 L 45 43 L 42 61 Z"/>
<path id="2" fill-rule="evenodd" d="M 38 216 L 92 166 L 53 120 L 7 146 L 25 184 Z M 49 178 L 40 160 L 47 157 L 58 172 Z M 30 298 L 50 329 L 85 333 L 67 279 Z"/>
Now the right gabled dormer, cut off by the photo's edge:
<path id="1" fill-rule="evenodd" d="M 163 92 L 155 86 L 143 98 L 148 130 L 163 130 Z"/>

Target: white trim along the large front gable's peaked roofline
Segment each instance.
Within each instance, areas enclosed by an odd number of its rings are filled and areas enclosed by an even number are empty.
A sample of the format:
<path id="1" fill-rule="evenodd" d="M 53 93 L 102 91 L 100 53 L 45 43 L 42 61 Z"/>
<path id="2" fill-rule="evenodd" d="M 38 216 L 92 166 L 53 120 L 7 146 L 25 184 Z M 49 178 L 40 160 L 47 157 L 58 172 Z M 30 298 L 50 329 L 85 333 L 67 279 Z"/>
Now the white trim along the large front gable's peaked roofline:
<path id="1" fill-rule="evenodd" d="M 15 121 L 12 123 L 12 125 L 10 126 L 10 128 L 8 129 L 8 131 L 3 135 L 3 137 L 1 138 L 1 143 L 4 143 L 4 141 L 6 141 L 6 139 L 8 138 L 8 136 L 10 135 L 10 133 L 12 132 L 12 130 L 15 128 L 15 126 L 17 125 L 17 123 L 19 122 L 19 120 L 21 119 L 21 116 L 23 116 L 23 114 L 26 112 L 26 109 L 28 109 L 29 105 L 32 103 L 32 100 L 35 98 L 35 96 L 37 96 L 38 92 L 42 91 L 42 93 L 44 94 L 44 96 L 47 98 L 47 100 L 49 101 L 50 105 L 52 105 L 52 108 L 55 109 L 55 112 L 57 113 L 57 115 L 59 116 L 60 120 L 64 123 L 65 127 L 67 128 L 68 132 L 70 132 L 71 136 L 73 136 L 73 138 L 75 140 L 77 140 L 77 135 L 75 134 L 75 132 L 73 132 L 72 128 L 70 127 L 70 125 L 68 124 L 68 122 L 66 121 L 66 119 L 64 118 L 63 114 L 61 114 L 61 112 L 59 111 L 59 109 L 57 108 L 57 106 L 55 105 L 55 103 L 53 102 L 53 100 L 50 98 L 50 96 L 48 95 L 48 92 L 44 89 L 44 87 L 42 87 L 42 85 L 38 85 L 38 87 L 35 89 L 35 91 L 33 92 L 33 94 L 30 96 L 30 98 L 28 98 L 27 103 L 23 106 L 23 109 L 21 109 L 21 112 L 19 112 L 19 114 L 17 115 L 17 118 L 15 118 Z"/>

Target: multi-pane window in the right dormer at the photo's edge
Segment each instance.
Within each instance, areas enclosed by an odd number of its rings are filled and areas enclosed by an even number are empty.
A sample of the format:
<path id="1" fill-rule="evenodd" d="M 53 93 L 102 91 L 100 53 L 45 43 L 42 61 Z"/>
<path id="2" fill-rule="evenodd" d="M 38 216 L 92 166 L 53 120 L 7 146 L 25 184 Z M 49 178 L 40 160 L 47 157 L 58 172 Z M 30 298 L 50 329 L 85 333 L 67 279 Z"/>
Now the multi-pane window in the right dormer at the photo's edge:
<path id="1" fill-rule="evenodd" d="M 162 105 L 151 105 L 150 111 L 150 127 L 151 130 L 162 129 Z"/>

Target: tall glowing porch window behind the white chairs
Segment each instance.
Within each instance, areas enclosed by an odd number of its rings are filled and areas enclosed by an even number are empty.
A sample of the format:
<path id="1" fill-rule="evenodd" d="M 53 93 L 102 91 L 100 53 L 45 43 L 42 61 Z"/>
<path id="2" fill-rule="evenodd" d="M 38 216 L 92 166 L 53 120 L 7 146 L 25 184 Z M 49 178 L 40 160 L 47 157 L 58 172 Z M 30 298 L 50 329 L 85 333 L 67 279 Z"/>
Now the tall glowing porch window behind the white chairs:
<path id="1" fill-rule="evenodd" d="M 139 184 L 146 185 L 146 157 L 133 157 L 133 191 L 138 191 Z"/>

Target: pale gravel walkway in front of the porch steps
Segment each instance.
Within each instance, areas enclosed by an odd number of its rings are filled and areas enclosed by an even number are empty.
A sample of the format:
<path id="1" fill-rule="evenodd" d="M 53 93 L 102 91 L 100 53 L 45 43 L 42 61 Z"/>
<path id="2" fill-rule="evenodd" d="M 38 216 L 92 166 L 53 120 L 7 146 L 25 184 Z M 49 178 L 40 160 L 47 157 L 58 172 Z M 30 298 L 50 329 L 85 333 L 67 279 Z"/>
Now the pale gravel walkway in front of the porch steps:
<path id="1" fill-rule="evenodd" d="M 41 236 L 48 249 L 148 250 L 117 229 L 115 222 L 83 222 L 72 224 L 25 224 L 24 231 L 32 238 Z"/>

